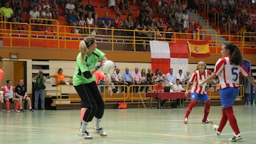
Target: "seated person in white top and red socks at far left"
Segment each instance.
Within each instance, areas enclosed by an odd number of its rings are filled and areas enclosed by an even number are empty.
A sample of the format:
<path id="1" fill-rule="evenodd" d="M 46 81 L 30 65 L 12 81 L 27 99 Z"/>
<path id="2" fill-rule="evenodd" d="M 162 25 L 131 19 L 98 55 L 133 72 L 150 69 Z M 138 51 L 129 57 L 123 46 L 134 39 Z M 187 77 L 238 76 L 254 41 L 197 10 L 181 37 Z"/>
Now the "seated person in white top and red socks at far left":
<path id="1" fill-rule="evenodd" d="M 17 99 L 14 95 L 14 87 L 11 85 L 11 80 L 6 80 L 6 86 L 4 86 L 3 89 L 3 96 L 4 96 L 4 102 L 6 103 L 6 110 L 7 113 L 10 113 L 10 103 L 16 103 L 15 104 L 15 112 L 20 113 L 21 111 L 18 110 L 18 106 L 20 105 L 20 100 Z"/>

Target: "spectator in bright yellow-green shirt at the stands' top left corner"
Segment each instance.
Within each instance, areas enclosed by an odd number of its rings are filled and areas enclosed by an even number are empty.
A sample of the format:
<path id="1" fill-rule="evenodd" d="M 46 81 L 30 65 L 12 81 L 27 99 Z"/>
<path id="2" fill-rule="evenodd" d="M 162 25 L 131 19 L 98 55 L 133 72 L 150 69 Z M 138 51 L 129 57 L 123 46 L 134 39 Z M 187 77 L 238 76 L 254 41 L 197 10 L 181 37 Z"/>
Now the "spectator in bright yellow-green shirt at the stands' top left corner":
<path id="1" fill-rule="evenodd" d="M 0 8 L 1 16 L 5 16 L 6 21 L 16 22 L 16 18 L 14 17 L 14 11 L 10 8 L 9 2 L 6 2 L 3 7 Z M 14 25 L 14 29 L 18 29 L 17 25 Z"/>

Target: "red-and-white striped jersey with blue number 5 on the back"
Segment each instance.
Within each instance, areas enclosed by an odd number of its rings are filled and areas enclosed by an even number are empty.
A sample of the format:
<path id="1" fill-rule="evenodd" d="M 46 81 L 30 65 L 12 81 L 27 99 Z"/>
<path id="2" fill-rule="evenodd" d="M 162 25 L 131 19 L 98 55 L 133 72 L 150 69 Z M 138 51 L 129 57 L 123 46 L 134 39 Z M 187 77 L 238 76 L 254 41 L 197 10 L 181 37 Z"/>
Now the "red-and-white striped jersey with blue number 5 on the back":
<path id="1" fill-rule="evenodd" d="M 239 87 L 239 75 L 242 77 L 250 75 L 244 65 L 233 65 L 230 57 L 220 58 L 215 64 L 214 73 L 218 75 L 220 89 Z"/>

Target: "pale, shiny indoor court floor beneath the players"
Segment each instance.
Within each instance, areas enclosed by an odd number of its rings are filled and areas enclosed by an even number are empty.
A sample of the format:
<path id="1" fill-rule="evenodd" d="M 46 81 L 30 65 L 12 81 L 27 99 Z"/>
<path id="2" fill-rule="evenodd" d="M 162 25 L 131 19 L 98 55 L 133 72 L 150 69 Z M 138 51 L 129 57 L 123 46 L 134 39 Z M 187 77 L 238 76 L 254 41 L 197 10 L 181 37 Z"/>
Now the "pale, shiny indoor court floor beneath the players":
<path id="1" fill-rule="evenodd" d="M 180 109 L 106 109 L 102 127 L 108 133 L 100 137 L 91 133 L 93 139 L 85 140 L 78 136 L 80 111 L 35 111 L 24 113 L 0 113 L 0 143 L 28 144 L 164 144 L 164 143 L 230 143 L 233 136 L 229 124 L 220 137 L 215 136 L 213 124 L 202 124 L 203 106 L 191 112 L 188 124 L 182 123 L 186 108 Z M 256 143 L 255 106 L 235 106 L 235 116 L 242 132 L 243 140 L 235 143 Z M 220 106 L 212 106 L 209 119 L 218 124 Z M 88 127 L 91 132 L 95 121 Z"/>

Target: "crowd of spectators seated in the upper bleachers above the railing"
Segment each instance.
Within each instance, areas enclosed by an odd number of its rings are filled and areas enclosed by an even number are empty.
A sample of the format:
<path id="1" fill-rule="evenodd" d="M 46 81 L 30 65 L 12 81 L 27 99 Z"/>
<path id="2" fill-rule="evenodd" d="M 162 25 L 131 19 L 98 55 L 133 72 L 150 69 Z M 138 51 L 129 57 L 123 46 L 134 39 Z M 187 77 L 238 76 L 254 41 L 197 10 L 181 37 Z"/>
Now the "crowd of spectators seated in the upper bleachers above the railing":
<path id="1" fill-rule="evenodd" d="M 252 1 L 242 0 L 109 0 L 102 9 L 113 9 L 113 11 L 97 11 L 94 1 L 82 0 L 3 0 L 1 1 L 1 15 L 5 15 L 7 21 L 28 22 L 23 18 L 22 13 L 28 13 L 28 18 L 56 19 L 65 16 L 67 25 L 73 26 L 73 33 L 92 33 L 97 34 L 97 28 L 126 28 L 129 30 L 144 30 L 146 33 L 139 32 L 137 36 L 161 38 L 171 38 L 172 34 L 163 35 L 161 31 L 178 33 L 198 32 L 193 25 L 202 25 L 198 21 L 191 21 L 188 11 L 202 11 L 203 6 L 209 4 L 209 18 L 214 21 L 215 13 L 220 13 L 220 28 L 225 29 L 225 23 L 230 23 L 231 32 L 242 35 L 243 32 L 255 32 L 253 19 L 250 11 L 247 10 L 248 3 L 252 9 Z M 6 5 L 9 4 L 9 6 Z M 29 6 L 27 6 L 29 4 Z M 97 3 L 96 3 L 97 4 Z M 139 9 L 132 9 L 132 6 L 139 6 Z M 9 9 L 9 10 L 6 10 Z M 13 12 L 11 12 L 11 10 Z M 133 11 L 138 16 L 134 16 Z M 98 12 L 102 17 L 98 18 Z M 127 18 L 124 18 L 126 16 Z M 124 18 L 124 19 L 123 19 Z M 48 23 L 53 21 L 33 20 L 31 23 Z M 78 27 L 79 28 L 75 28 Z M 34 26 L 34 31 L 41 31 L 43 28 Z M 90 31 L 87 28 L 92 27 Z M 94 29 L 95 28 L 95 29 Z M 199 26 L 202 28 L 202 26 Z M 24 29 L 22 26 L 14 25 L 14 29 Z M 45 28 L 46 32 L 48 28 Z M 54 33 L 54 29 L 51 28 Z M 152 31 L 156 31 L 151 33 Z M 159 32 L 157 32 L 159 31 Z M 101 33 L 104 34 L 104 33 Z M 107 30 L 105 31 L 107 34 Z M 119 33 L 120 34 L 120 33 Z M 129 35 L 129 33 L 126 33 Z M 187 35 L 186 35 L 187 38 Z M 171 40 L 171 39 L 169 39 Z M 255 40 L 249 38 L 248 40 Z"/>

